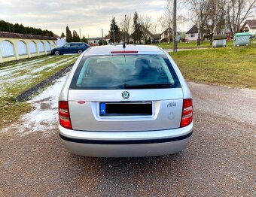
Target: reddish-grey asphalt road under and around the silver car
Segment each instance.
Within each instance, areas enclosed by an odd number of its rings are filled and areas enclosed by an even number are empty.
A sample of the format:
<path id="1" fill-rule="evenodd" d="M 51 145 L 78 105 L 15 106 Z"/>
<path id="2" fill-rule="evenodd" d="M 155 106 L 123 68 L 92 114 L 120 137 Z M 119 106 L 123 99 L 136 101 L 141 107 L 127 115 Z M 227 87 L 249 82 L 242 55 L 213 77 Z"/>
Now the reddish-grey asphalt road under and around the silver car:
<path id="1" fill-rule="evenodd" d="M 189 85 L 194 134 L 181 153 L 88 158 L 57 129 L 12 135 L 0 140 L 0 196 L 255 196 L 256 91 Z"/>

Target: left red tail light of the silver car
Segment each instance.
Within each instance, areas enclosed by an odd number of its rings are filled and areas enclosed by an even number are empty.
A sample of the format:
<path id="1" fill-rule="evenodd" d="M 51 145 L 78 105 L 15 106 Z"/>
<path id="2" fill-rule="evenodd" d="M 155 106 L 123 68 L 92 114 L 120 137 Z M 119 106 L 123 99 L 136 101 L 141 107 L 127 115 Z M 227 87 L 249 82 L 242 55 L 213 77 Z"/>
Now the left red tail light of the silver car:
<path id="1" fill-rule="evenodd" d="M 69 116 L 69 102 L 59 102 L 59 124 L 66 129 L 72 129 Z"/>

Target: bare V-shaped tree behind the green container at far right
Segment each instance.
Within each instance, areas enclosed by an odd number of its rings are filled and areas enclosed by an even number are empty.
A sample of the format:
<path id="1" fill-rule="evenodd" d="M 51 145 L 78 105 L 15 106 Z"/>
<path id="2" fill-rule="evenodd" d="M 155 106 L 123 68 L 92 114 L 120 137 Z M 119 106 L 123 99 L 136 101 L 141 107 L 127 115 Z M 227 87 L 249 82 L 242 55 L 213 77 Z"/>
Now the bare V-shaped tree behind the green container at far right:
<path id="1" fill-rule="evenodd" d="M 230 0 L 228 11 L 228 23 L 230 31 L 239 32 L 242 23 L 252 16 L 256 8 L 256 0 Z"/>

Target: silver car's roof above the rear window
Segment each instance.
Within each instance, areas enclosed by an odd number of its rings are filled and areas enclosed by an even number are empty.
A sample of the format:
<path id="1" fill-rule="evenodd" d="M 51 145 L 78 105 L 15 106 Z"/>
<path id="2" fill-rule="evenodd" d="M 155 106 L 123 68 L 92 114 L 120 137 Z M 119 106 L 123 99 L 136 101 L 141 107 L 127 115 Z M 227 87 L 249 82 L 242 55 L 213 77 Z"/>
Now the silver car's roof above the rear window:
<path id="1" fill-rule="evenodd" d="M 138 53 L 131 53 L 133 51 L 138 51 Z M 111 53 L 112 52 L 112 53 Z M 95 55 L 120 55 L 120 54 L 165 54 L 160 47 L 151 46 L 151 45 L 133 45 L 126 44 L 126 47 L 123 48 L 123 45 L 105 45 L 99 47 L 90 47 L 84 56 L 95 56 Z M 122 53 L 118 53 L 122 52 Z"/>

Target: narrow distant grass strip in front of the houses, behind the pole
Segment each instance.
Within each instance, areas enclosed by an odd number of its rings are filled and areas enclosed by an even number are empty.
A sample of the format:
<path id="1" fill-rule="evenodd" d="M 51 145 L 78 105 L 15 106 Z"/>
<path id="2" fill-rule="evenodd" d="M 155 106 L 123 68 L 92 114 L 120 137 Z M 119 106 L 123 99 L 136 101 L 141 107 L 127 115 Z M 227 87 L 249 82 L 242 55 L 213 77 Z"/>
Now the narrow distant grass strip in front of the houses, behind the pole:
<path id="1" fill-rule="evenodd" d="M 163 49 L 172 49 L 172 42 L 170 44 L 163 43 L 163 44 L 156 44 L 156 46 L 161 47 Z M 233 46 L 233 41 L 227 41 L 227 47 Z M 190 42 L 190 43 L 185 43 L 185 42 L 179 42 L 178 43 L 178 49 L 191 49 L 191 48 L 210 48 L 212 47 L 210 41 L 203 41 L 203 44 L 200 46 L 197 46 L 197 42 Z"/>

